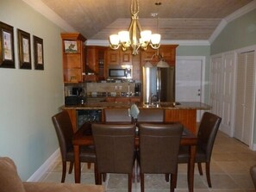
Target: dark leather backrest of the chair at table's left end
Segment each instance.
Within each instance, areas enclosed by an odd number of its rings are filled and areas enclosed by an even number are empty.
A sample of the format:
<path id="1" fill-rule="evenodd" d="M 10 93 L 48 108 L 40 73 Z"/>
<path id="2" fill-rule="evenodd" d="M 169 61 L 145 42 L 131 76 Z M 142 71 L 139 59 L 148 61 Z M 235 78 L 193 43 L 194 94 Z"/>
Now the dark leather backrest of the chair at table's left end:
<path id="1" fill-rule="evenodd" d="M 57 133 L 59 140 L 59 148 L 63 160 L 66 159 L 66 152 L 72 147 L 72 121 L 66 111 L 62 111 L 59 114 L 53 115 L 52 117 L 53 126 Z"/>

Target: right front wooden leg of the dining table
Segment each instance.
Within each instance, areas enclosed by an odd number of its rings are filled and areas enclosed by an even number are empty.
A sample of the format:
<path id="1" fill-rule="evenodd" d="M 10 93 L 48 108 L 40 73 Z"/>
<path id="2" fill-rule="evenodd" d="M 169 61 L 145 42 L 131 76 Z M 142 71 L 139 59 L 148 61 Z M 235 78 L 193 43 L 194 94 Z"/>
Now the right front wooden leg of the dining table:
<path id="1" fill-rule="evenodd" d="M 190 146 L 190 162 L 188 164 L 188 184 L 189 191 L 194 191 L 194 168 L 195 168 L 195 157 L 196 157 L 197 147 Z"/>

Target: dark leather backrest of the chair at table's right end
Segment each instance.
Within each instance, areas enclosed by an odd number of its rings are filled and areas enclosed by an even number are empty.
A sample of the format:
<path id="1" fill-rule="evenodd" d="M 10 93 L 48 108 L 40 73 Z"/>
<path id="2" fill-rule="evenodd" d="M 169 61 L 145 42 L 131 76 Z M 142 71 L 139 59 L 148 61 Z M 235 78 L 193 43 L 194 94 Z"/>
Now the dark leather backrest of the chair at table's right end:
<path id="1" fill-rule="evenodd" d="M 215 143 L 215 137 L 220 127 L 222 118 L 209 112 L 203 114 L 197 133 L 197 146 L 206 152 L 206 160 L 209 161 Z"/>

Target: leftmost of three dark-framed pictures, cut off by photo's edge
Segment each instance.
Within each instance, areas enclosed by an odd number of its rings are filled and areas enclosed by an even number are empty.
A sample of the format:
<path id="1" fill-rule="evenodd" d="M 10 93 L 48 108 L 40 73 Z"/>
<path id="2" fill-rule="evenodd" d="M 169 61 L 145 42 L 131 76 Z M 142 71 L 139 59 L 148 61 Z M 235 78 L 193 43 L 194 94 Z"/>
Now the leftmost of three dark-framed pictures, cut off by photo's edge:
<path id="1" fill-rule="evenodd" d="M 0 22 L 0 67 L 16 68 L 13 27 Z"/>

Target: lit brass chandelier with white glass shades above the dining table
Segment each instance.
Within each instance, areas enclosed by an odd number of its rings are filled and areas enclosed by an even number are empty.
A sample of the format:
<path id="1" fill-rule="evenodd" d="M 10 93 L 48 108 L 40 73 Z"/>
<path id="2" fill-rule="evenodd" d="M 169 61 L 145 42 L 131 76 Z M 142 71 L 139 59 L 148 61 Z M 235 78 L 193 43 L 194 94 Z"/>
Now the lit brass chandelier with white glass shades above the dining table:
<path id="1" fill-rule="evenodd" d="M 116 50 L 122 46 L 123 51 L 126 51 L 129 47 L 131 47 L 133 50 L 133 55 L 138 54 L 139 48 L 147 50 L 147 46 L 149 45 L 153 49 L 158 49 L 160 46 L 161 35 L 152 34 L 150 30 L 141 30 L 138 16 L 139 0 L 132 0 L 131 14 L 132 22 L 128 31 L 120 31 L 118 34 L 111 34 L 109 36 L 110 47 Z"/>

